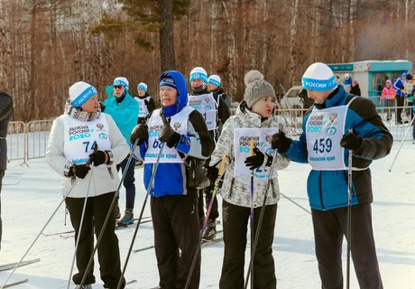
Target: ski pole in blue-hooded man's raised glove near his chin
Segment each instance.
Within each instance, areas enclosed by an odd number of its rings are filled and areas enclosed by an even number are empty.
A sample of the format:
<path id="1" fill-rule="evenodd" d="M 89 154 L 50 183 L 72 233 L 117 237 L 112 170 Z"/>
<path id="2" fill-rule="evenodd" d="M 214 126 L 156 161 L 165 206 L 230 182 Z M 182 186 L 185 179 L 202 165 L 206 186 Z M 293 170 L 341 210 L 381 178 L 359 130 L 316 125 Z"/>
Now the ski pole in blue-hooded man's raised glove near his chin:
<path id="1" fill-rule="evenodd" d="M 164 116 L 164 113 L 163 113 L 162 109 L 160 111 L 160 117 L 161 117 L 161 121 L 163 123 L 163 126 L 169 126 L 169 122 L 167 121 L 166 117 Z M 120 279 L 118 280 L 118 284 L 116 286 L 116 289 L 120 289 L 121 284 L 123 283 L 123 276 L 125 274 L 125 270 L 127 268 L 128 261 L 129 261 L 130 256 L 131 256 L 131 251 L 133 250 L 134 241 L 135 241 L 135 238 L 137 236 L 138 228 L 140 227 L 140 223 L 141 223 L 142 218 L 143 218 L 143 213 L 144 213 L 145 205 L 147 204 L 149 193 L 150 193 L 150 191 L 152 191 L 152 188 L 153 188 L 153 182 L 154 182 L 155 174 L 157 172 L 157 168 L 159 167 L 161 153 L 162 153 L 162 150 L 163 150 L 165 144 L 166 144 L 165 142 L 161 143 L 161 148 L 160 148 L 160 151 L 159 151 L 159 155 L 157 155 L 157 160 L 154 163 L 154 170 L 152 171 L 152 177 L 150 178 L 149 187 L 147 189 L 147 192 L 145 193 L 145 198 L 144 198 L 142 210 L 140 212 L 140 217 L 138 218 L 138 221 L 137 221 L 137 227 L 135 227 L 134 236 L 133 236 L 133 239 L 131 240 L 131 245 L 130 245 L 130 248 L 128 249 L 128 253 L 127 253 L 127 256 L 125 258 L 123 271 L 121 273 Z"/>

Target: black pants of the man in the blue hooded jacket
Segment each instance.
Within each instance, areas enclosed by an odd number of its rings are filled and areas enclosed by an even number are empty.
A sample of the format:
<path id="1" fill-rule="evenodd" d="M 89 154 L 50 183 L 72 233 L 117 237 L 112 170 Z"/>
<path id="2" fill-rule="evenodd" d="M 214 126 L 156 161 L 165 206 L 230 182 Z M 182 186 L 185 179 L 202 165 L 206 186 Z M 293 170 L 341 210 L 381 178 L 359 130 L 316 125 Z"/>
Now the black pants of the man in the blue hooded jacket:
<path id="1" fill-rule="evenodd" d="M 190 289 L 200 282 L 200 231 L 196 191 L 188 195 L 152 197 L 154 245 L 163 289 L 184 288 L 193 256 L 198 260 L 192 274 Z"/>

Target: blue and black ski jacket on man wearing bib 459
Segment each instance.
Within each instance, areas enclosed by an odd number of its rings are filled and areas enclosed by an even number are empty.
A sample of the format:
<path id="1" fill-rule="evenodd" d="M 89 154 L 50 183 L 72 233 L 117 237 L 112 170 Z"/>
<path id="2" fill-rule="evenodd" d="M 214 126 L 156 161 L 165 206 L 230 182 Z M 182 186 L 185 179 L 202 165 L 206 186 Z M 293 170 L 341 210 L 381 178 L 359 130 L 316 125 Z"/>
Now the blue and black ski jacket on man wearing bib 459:
<path id="1" fill-rule="evenodd" d="M 355 96 L 346 92 L 343 86 L 330 94 L 324 107 L 344 106 Z M 285 153 L 292 161 L 308 163 L 306 124 L 313 107 L 307 111 L 303 123 L 303 133 L 300 140 L 293 140 L 290 149 Z M 353 128 L 355 134 L 364 139 L 363 151 L 360 155 L 353 155 L 353 167 L 357 170 L 352 174 L 353 198 L 352 205 L 372 202 L 372 180 L 369 165 L 376 159 L 389 154 L 392 148 L 392 135 L 383 125 L 381 117 L 376 112 L 374 103 L 367 98 L 355 98 L 347 109 L 346 130 Z M 335 145 L 335 144 L 333 144 Z M 340 144 L 337 144 L 340 145 Z M 345 163 L 348 165 L 348 152 L 345 150 Z M 366 168 L 366 169 L 364 169 Z M 359 170 L 360 169 L 360 170 Z M 332 210 L 347 206 L 347 170 L 309 172 L 307 182 L 309 205 L 314 210 Z"/>

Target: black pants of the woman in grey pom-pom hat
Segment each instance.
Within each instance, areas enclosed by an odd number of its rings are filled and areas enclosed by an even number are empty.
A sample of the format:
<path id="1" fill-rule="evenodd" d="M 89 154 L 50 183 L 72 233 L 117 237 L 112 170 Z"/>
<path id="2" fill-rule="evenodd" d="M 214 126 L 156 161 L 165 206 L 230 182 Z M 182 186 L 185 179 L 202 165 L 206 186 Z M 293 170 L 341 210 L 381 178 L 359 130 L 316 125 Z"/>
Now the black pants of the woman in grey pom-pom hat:
<path id="1" fill-rule="evenodd" d="M 254 209 L 254 234 L 262 208 Z M 222 203 L 225 254 L 220 276 L 220 289 L 244 288 L 244 253 L 250 209 Z M 265 206 L 263 223 L 254 256 L 254 288 L 272 289 L 277 287 L 275 266 L 272 257 L 277 205 Z"/>

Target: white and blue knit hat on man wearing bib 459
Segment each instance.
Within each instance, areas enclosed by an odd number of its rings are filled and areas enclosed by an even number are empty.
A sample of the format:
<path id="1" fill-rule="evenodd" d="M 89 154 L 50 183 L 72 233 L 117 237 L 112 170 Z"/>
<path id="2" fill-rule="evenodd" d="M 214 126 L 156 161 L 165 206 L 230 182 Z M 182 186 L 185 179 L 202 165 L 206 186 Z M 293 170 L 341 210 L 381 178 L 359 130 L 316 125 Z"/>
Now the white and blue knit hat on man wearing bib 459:
<path id="1" fill-rule="evenodd" d="M 321 62 L 311 64 L 304 72 L 301 82 L 304 89 L 327 91 L 337 88 L 333 71 Z"/>

